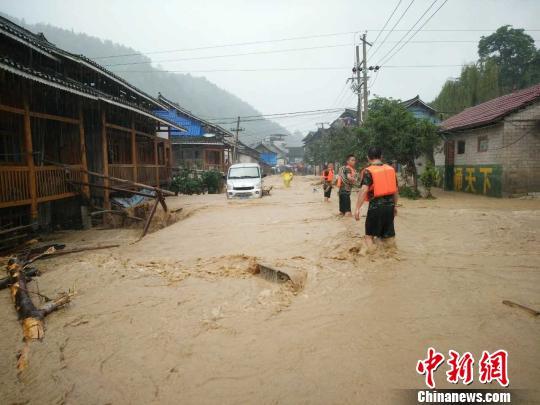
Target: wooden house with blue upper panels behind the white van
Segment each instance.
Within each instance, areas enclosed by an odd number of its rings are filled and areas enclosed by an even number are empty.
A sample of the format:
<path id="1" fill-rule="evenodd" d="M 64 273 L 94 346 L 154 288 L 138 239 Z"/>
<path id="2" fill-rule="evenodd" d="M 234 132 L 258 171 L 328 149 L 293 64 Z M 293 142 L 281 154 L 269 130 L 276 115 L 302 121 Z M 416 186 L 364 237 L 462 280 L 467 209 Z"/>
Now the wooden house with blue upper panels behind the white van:
<path id="1" fill-rule="evenodd" d="M 167 108 L 155 110 L 154 113 L 186 129 L 178 131 L 172 128 L 169 131 L 174 167 L 225 172 L 231 163 L 233 134 L 197 117 L 161 94 L 158 99 Z"/>

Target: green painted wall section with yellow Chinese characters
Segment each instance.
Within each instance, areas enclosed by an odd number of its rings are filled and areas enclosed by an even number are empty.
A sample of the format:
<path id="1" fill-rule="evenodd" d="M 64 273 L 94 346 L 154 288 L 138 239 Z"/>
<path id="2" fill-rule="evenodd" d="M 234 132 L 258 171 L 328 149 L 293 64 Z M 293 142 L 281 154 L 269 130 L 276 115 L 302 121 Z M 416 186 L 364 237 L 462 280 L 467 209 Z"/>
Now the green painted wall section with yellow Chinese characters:
<path id="1" fill-rule="evenodd" d="M 445 190 L 463 191 L 491 197 L 502 196 L 501 165 L 456 165 L 437 166 L 438 187 Z"/>

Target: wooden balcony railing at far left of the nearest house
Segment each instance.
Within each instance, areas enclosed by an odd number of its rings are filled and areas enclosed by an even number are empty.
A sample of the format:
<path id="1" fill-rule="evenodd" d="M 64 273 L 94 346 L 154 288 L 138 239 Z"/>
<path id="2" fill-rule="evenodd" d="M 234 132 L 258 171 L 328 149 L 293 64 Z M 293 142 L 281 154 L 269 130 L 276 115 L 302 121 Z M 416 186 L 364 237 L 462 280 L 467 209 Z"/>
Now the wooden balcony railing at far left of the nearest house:
<path id="1" fill-rule="evenodd" d="M 70 174 L 57 166 L 36 166 L 38 203 L 78 194 L 67 180 L 82 181 L 80 165 L 72 165 Z M 79 169 L 79 170 L 77 170 Z M 0 166 L 0 208 L 32 203 L 30 169 L 27 166 Z"/>

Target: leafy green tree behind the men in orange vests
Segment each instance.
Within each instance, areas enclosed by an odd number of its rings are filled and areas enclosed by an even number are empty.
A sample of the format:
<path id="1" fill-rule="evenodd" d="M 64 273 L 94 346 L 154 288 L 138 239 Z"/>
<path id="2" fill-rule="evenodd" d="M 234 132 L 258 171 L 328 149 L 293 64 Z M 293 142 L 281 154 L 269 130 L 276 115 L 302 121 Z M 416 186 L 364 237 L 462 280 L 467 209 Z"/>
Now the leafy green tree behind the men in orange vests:
<path id="1" fill-rule="evenodd" d="M 399 100 L 375 98 L 369 102 L 368 118 L 360 128 L 360 156 L 371 146 L 383 150 L 386 161 L 406 165 L 417 188 L 414 160 L 421 155 L 432 159 L 433 148 L 440 142 L 437 126 L 429 120 L 414 117 Z"/>

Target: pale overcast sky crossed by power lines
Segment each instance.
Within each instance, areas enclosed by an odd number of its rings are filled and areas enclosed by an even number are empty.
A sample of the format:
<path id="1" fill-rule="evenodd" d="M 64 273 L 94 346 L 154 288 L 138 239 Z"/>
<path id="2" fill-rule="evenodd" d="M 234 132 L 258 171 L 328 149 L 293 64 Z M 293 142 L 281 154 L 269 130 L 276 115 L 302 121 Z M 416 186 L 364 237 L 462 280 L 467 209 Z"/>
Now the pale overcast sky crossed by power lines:
<path id="1" fill-rule="evenodd" d="M 396 45 L 434 0 L 416 0 L 386 43 L 379 36 L 368 53 L 368 65 Z M 436 3 L 419 28 L 444 0 Z M 259 43 L 197 51 L 152 54 L 156 62 L 179 58 L 221 56 L 295 48 L 289 52 L 161 62 L 167 70 L 206 76 L 265 114 L 332 107 L 356 107 L 356 96 L 344 88 L 351 75 L 354 44 L 367 30 L 374 41 L 399 0 L 0 0 L 1 10 L 28 23 L 45 22 L 62 28 L 131 46 L 141 52 L 204 47 L 231 43 L 286 39 L 320 34 L 320 38 Z M 411 0 L 402 0 L 387 29 L 394 26 Z M 371 95 L 407 99 L 420 95 L 431 101 L 444 81 L 459 76 L 459 66 L 422 68 L 418 65 L 460 65 L 474 61 L 481 35 L 497 27 L 540 30 L 539 0 L 449 0 L 412 41 L 465 41 L 408 43 L 370 78 Z M 431 30 L 431 31 L 430 31 Z M 448 32 L 432 30 L 452 30 Z M 459 31 L 459 30 L 484 30 Z M 414 30 L 413 30 L 414 32 Z M 540 31 L 530 31 L 540 39 Z M 467 42 L 471 41 L 471 42 Z M 396 48 L 398 49 L 398 48 Z M 373 55 L 373 56 L 370 56 Z M 390 54 L 392 55 L 392 54 Z M 311 70 L 260 71 L 298 68 Z M 314 70 L 319 68 L 332 68 Z M 255 69 L 250 72 L 201 70 Z M 144 70 L 144 65 L 141 65 Z M 145 74 L 145 73 L 141 73 Z M 331 115 L 278 121 L 289 130 L 306 131 Z"/>

